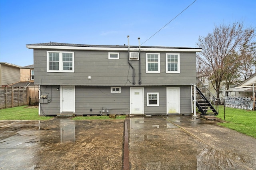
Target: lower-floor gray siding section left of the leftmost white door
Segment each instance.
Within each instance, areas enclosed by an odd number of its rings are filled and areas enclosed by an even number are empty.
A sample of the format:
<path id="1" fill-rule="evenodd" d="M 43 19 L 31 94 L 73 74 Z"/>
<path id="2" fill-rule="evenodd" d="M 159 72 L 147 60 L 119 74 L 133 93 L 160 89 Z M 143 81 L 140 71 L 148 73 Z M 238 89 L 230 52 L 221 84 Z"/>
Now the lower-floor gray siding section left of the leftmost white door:
<path id="1" fill-rule="evenodd" d="M 60 86 L 42 85 L 40 87 L 41 95 L 48 95 L 48 103 L 40 103 L 40 115 L 58 115 L 60 114 Z"/>

